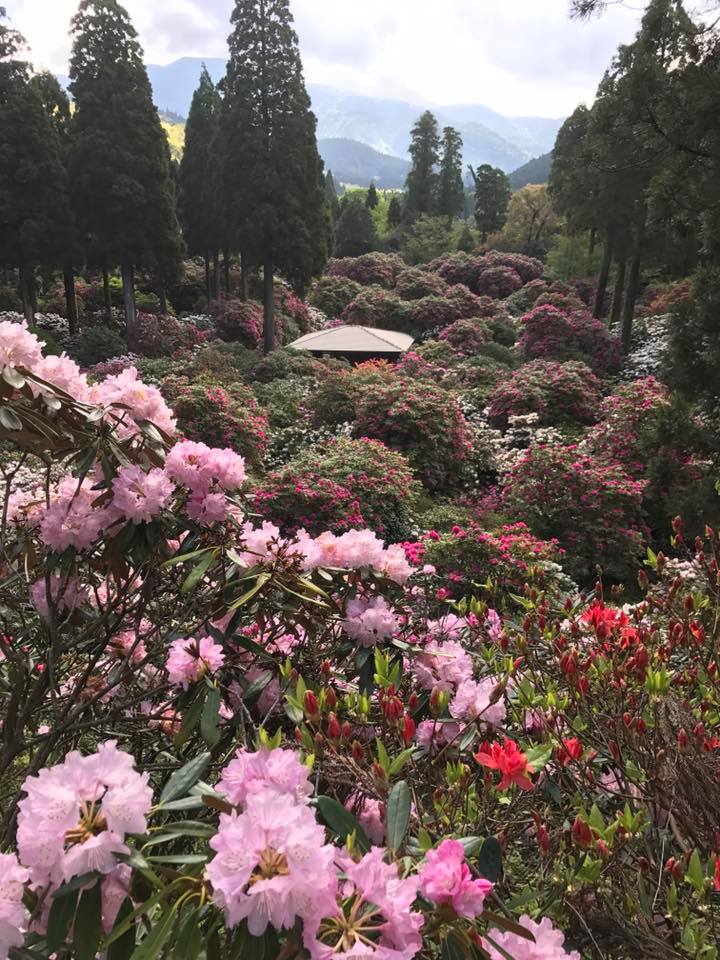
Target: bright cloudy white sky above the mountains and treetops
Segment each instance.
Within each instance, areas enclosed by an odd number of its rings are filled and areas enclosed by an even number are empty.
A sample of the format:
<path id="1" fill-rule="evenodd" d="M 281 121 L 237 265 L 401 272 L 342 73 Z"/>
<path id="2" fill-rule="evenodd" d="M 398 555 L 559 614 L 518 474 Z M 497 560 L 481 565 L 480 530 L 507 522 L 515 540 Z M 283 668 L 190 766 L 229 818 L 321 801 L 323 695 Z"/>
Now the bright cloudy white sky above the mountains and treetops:
<path id="1" fill-rule="evenodd" d="M 67 72 L 77 0 L 3 0 L 36 64 Z M 639 0 L 578 23 L 569 0 L 292 0 L 309 81 L 419 104 L 565 116 L 595 89 Z M 233 0 L 125 0 L 148 63 L 223 57 Z"/>

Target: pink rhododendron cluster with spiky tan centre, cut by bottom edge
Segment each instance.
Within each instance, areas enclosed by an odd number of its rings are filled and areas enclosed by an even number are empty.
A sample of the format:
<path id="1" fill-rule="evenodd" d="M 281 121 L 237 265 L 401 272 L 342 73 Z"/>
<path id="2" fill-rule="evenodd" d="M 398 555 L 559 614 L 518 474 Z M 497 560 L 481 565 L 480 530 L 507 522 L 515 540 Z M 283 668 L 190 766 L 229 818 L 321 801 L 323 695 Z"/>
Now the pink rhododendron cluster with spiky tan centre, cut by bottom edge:
<path id="1" fill-rule="evenodd" d="M 305 920 L 304 944 L 312 960 L 412 960 L 421 949 L 424 918 L 411 909 L 417 878 L 400 879 L 397 864 L 384 862 L 384 852 L 373 847 L 359 863 L 337 852 L 345 875 L 340 903 L 335 900 L 328 910 L 316 902 Z"/>

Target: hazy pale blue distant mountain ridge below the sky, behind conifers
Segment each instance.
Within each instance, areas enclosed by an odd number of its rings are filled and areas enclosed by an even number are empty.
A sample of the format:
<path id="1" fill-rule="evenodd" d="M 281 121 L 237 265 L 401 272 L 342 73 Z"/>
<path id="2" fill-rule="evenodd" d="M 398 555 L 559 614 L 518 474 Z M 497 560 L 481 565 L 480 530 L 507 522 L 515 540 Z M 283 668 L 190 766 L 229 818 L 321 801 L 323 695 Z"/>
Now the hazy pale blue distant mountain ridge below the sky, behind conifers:
<path id="1" fill-rule="evenodd" d="M 203 63 L 215 82 L 222 79 L 225 60 L 217 57 L 182 57 L 166 66 L 148 65 L 153 96 L 160 110 L 187 117 Z M 59 79 L 67 82 L 65 77 Z M 308 92 L 318 119 L 319 140 L 359 141 L 380 154 L 407 158 L 410 129 L 425 107 L 312 83 Z M 441 127 L 454 126 L 462 134 L 466 164 L 490 163 L 506 172 L 551 150 L 562 123 L 562 119 L 546 117 L 506 117 L 482 104 L 430 109 Z"/>

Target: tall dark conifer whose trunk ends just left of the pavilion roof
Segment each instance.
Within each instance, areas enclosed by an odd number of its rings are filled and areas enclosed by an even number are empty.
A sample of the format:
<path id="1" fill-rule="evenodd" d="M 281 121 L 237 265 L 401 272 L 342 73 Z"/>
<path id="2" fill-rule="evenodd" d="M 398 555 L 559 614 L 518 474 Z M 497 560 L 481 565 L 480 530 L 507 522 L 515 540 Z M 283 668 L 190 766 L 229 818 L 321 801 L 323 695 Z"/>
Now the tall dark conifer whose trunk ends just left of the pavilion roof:
<path id="1" fill-rule="evenodd" d="M 273 277 L 302 291 L 330 239 L 316 120 L 288 0 L 235 0 L 224 81 L 225 199 L 234 245 L 264 274 L 264 346 L 275 347 Z"/>

